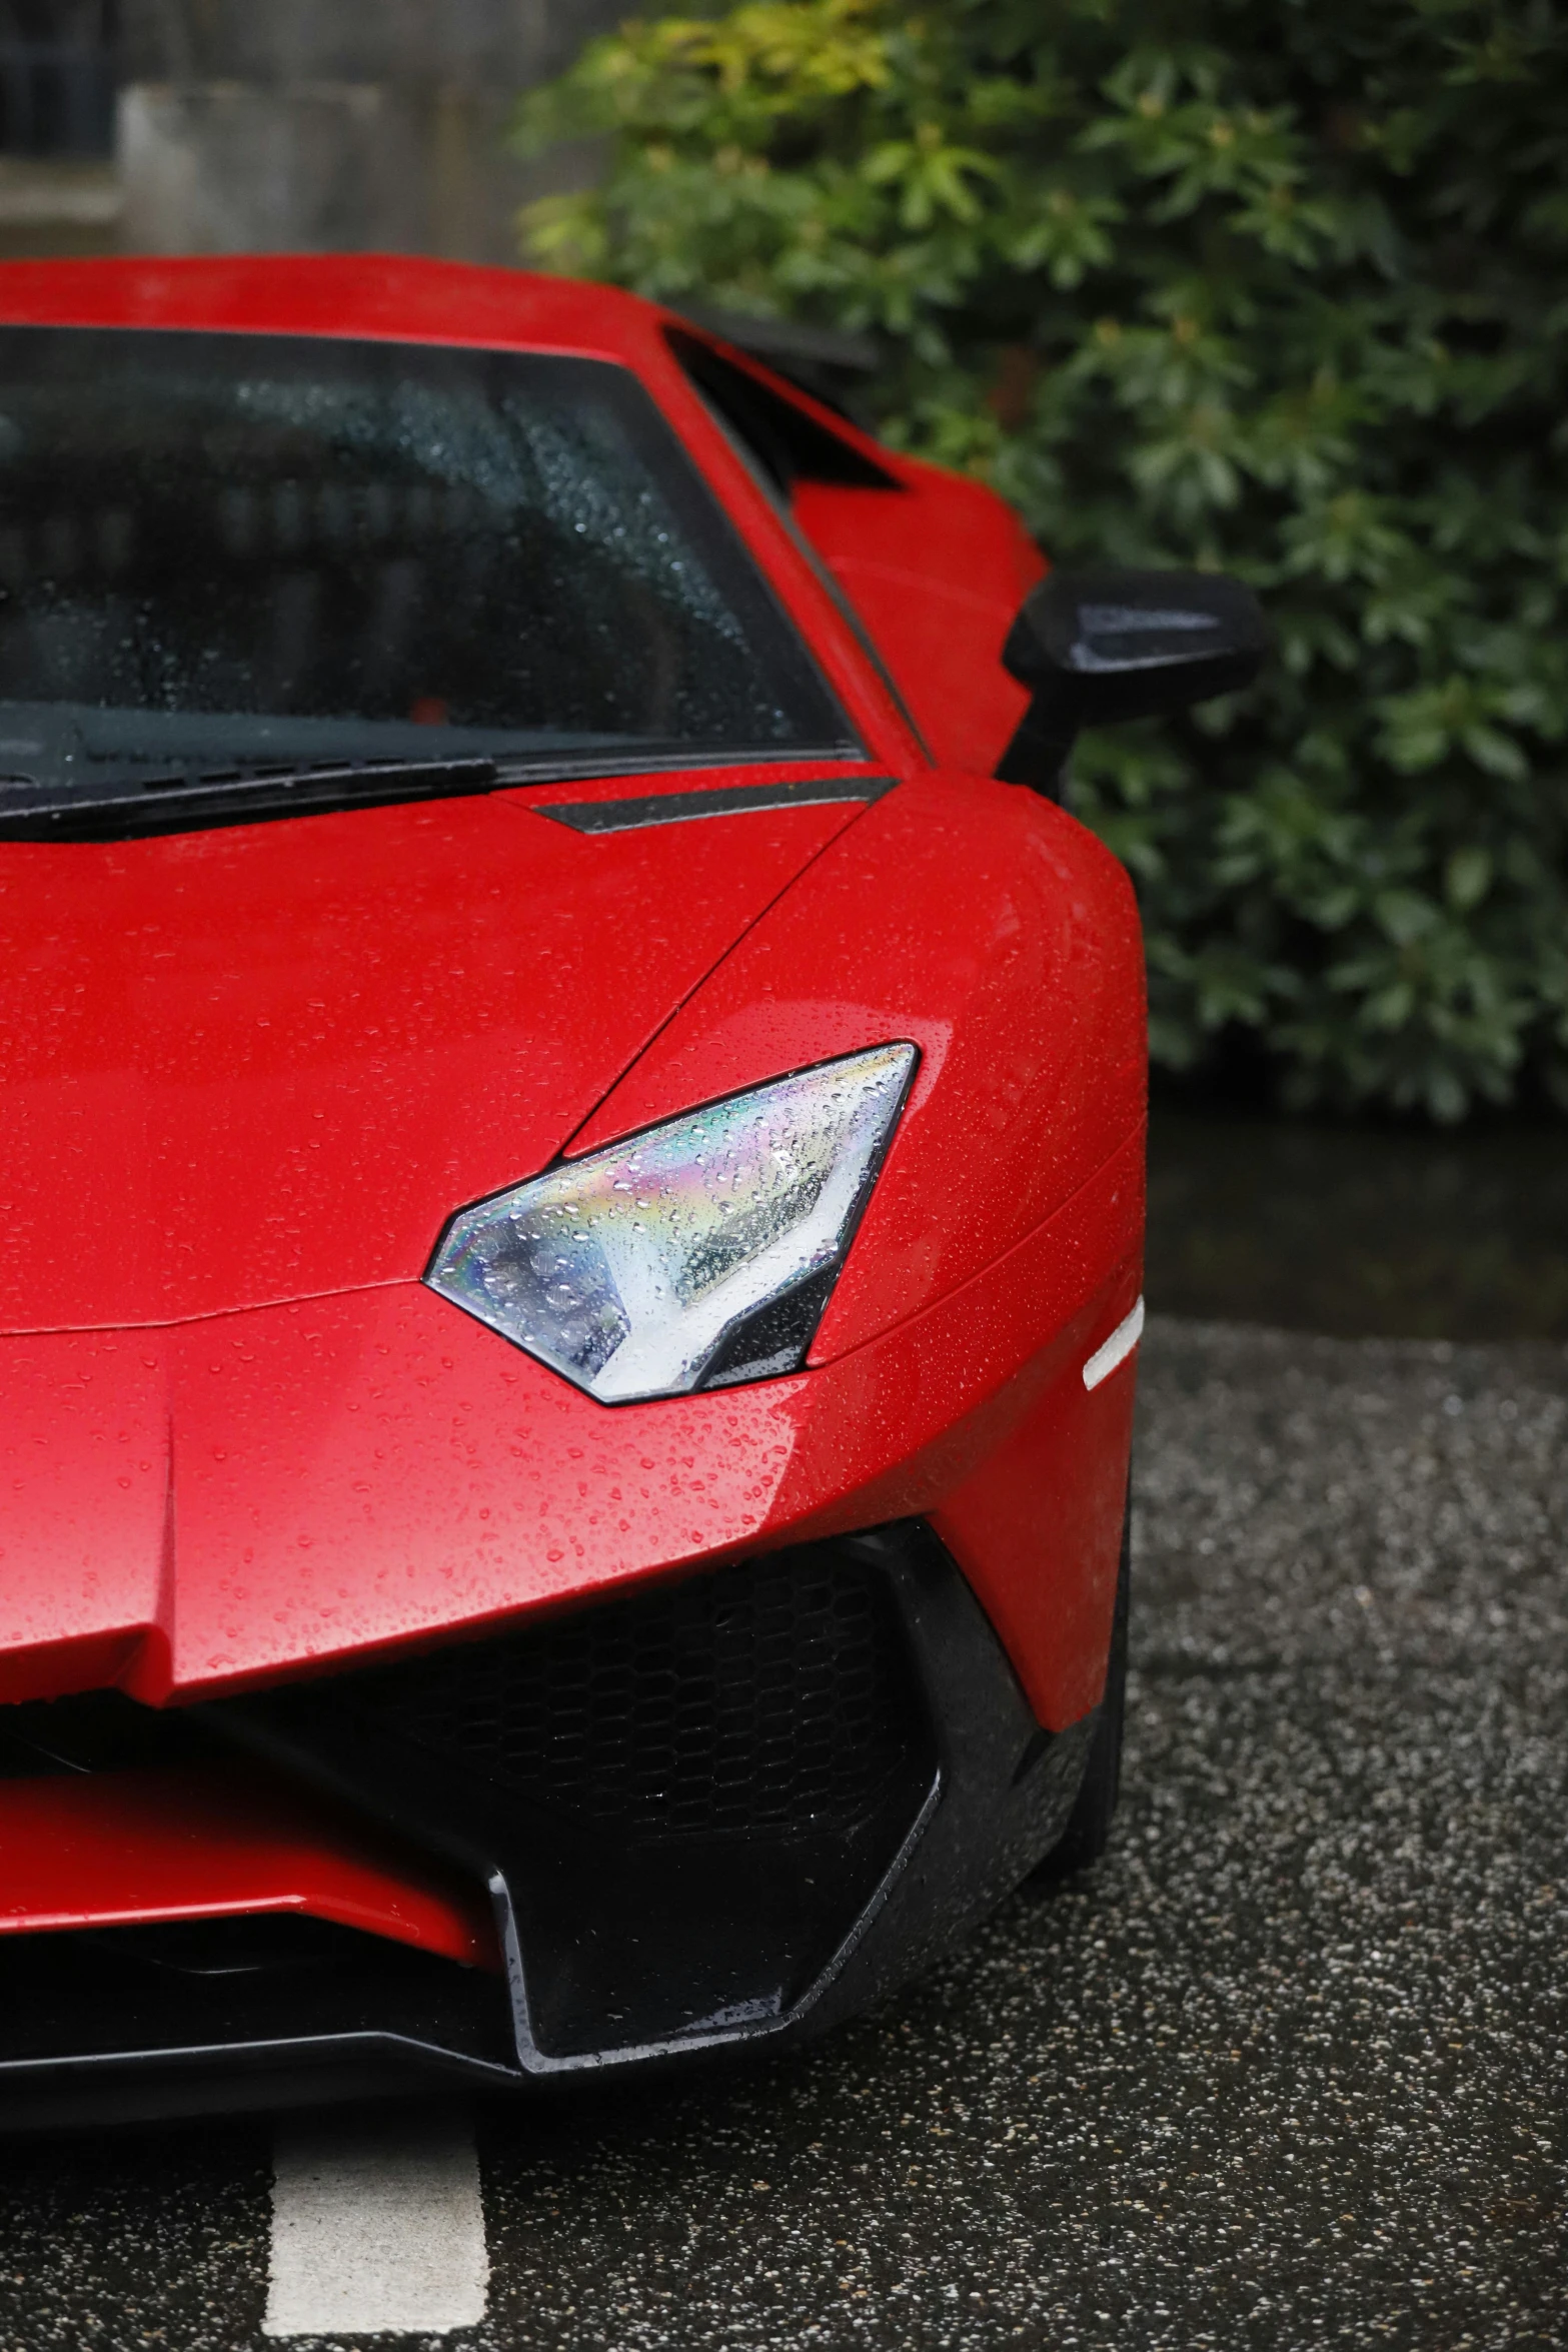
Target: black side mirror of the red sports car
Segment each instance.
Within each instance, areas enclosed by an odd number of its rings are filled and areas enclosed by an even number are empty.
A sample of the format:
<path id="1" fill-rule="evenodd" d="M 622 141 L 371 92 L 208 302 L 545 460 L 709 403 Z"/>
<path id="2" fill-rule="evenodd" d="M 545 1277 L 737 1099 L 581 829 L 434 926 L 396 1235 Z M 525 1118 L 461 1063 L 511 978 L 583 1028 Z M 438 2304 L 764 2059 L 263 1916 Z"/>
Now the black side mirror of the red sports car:
<path id="1" fill-rule="evenodd" d="M 1053 572 L 1001 647 L 1034 701 L 997 774 L 1056 800 L 1079 727 L 1229 694 L 1251 684 L 1267 649 L 1258 597 L 1220 572 Z"/>

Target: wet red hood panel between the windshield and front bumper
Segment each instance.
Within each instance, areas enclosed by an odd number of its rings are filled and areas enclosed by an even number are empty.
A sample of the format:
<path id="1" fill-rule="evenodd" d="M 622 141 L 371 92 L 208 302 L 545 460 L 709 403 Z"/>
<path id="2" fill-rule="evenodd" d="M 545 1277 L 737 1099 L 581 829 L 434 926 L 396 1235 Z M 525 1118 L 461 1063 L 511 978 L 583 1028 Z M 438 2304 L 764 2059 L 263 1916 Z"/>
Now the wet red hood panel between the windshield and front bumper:
<path id="1" fill-rule="evenodd" d="M 418 1275 L 858 814 L 538 814 L 696 781 L 0 844 L 0 1331 Z"/>

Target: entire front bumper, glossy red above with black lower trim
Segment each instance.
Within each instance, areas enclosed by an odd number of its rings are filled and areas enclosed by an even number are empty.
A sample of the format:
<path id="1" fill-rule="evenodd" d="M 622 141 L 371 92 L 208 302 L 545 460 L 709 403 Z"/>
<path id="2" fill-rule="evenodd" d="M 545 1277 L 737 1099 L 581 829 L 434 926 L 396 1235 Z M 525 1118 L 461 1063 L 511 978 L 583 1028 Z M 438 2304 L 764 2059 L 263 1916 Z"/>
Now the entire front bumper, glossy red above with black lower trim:
<path id="1" fill-rule="evenodd" d="M 61 1799 L 92 1870 L 0 1778 L 0 2124 L 686 2063 L 943 1950 L 1093 1733 L 1140 1155 L 884 1336 L 649 1406 L 421 1284 L 0 1345 L 0 1745 L 136 1750 Z"/>

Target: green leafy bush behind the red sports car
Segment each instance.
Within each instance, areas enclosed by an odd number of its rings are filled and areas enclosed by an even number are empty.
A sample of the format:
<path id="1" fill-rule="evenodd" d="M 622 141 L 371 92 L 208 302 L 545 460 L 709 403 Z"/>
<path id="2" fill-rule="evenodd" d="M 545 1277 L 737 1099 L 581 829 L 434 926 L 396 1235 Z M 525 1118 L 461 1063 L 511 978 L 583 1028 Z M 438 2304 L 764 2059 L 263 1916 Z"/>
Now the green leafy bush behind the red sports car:
<path id="1" fill-rule="evenodd" d="M 872 329 L 893 442 L 1058 560 L 1239 572 L 1265 684 L 1086 736 L 1157 1063 L 1568 1105 L 1568 24 L 1556 0 L 750 0 L 628 24 L 536 263 Z"/>

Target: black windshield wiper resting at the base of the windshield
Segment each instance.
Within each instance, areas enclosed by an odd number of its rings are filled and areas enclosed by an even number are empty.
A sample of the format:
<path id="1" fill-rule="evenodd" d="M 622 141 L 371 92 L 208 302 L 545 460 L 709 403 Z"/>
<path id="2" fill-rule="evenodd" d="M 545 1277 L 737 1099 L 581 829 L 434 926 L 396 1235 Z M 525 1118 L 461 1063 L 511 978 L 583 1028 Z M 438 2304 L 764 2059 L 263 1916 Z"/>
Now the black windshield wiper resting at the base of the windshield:
<path id="1" fill-rule="evenodd" d="M 327 816 L 334 809 L 397 800 L 454 800 L 489 793 L 501 781 L 494 760 L 367 760 L 362 764 L 273 769 L 261 774 L 160 776 L 132 790 L 0 797 L 2 842 L 132 842 L 150 833 L 202 833 L 254 826 L 273 816 Z"/>

